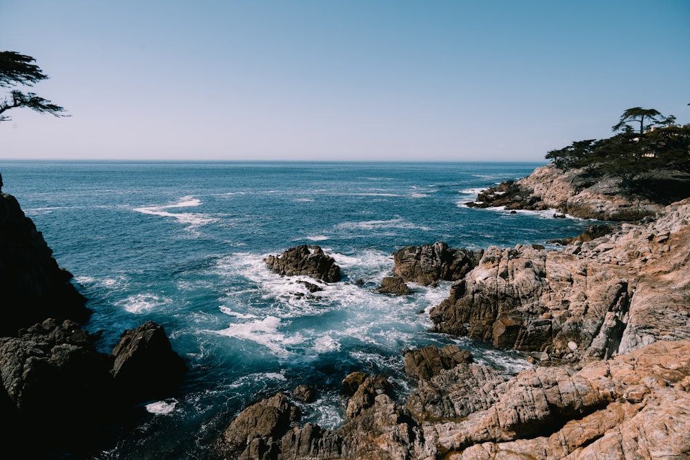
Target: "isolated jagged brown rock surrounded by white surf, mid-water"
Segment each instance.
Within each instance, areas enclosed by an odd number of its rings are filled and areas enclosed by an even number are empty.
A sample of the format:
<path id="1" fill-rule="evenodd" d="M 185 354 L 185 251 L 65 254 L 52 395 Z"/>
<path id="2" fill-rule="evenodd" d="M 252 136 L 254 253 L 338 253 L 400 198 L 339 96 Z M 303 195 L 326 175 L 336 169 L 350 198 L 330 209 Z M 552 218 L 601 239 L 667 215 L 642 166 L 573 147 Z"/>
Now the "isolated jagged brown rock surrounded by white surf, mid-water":
<path id="1" fill-rule="evenodd" d="M 270 270 L 283 276 L 305 275 L 326 283 L 341 279 L 340 267 L 319 246 L 310 248 L 303 244 L 286 250 L 281 256 L 268 256 L 264 262 Z"/>

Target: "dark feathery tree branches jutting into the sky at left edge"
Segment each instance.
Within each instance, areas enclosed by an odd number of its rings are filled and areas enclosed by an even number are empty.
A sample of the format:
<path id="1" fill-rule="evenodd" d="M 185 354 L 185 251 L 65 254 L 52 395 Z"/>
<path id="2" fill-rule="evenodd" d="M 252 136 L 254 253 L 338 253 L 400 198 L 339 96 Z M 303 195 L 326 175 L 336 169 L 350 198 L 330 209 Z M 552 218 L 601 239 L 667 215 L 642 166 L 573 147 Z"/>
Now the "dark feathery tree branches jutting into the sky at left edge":
<path id="1" fill-rule="evenodd" d="M 34 83 L 48 79 L 48 75 L 34 64 L 36 60 L 26 54 L 14 51 L 0 51 L 0 87 L 14 88 L 17 85 L 34 86 Z M 48 113 L 55 117 L 69 117 L 66 110 L 43 99 L 34 92 L 10 90 L 0 101 L 0 121 L 10 119 L 5 112 L 12 108 L 30 108 L 41 114 Z"/>

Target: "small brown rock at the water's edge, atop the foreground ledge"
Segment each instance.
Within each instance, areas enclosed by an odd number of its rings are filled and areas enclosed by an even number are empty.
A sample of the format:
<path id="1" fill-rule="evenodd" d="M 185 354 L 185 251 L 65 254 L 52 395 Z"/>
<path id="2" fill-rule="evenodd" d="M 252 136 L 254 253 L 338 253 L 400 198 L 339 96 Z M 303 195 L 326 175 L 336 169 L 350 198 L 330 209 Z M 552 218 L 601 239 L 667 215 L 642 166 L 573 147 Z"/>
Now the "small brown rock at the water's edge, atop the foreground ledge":
<path id="1" fill-rule="evenodd" d="M 435 346 L 404 350 L 405 373 L 416 379 L 428 380 L 444 369 L 452 369 L 460 363 L 471 363 L 471 352 L 460 350 L 457 345 Z"/>

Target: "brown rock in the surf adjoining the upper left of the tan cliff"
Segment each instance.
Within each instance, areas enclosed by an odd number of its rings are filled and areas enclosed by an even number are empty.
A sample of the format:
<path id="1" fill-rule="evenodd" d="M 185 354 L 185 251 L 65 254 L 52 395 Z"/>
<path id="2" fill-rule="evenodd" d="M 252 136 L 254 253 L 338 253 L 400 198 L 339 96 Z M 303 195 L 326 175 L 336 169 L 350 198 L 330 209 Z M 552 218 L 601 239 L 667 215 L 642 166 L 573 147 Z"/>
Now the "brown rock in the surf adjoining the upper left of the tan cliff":
<path id="1" fill-rule="evenodd" d="M 479 263 L 482 252 L 449 248 L 441 241 L 424 246 L 407 246 L 393 254 L 393 275 L 424 286 L 435 286 L 440 279 L 455 281 Z"/>

